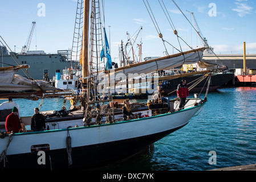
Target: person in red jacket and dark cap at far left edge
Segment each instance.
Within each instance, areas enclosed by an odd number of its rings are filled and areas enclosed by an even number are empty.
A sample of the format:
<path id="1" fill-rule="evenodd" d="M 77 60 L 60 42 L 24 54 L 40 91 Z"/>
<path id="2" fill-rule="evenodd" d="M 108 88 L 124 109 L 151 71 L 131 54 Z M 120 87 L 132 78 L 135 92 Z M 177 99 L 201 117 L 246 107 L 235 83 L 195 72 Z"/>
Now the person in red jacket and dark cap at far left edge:
<path id="1" fill-rule="evenodd" d="M 7 133 L 10 133 L 11 131 L 19 133 L 19 131 L 22 130 L 17 107 L 13 107 L 12 113 L 6 117 L 5 129 Z"/>

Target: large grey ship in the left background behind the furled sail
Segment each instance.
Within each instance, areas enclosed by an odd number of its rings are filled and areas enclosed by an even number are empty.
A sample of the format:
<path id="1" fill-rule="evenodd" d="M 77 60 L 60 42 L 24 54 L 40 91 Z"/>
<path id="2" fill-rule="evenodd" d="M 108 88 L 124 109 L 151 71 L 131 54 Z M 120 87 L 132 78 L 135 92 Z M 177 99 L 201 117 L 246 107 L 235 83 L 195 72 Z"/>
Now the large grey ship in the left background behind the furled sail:
<path id="1" fill-rule="evenodd" d="M 19 63 L 17 63 L 18 61 Z M 44 80 L 47 75 L 49 79 L 54 78 L 56 69 L 75 68 L 75 62 L 70 61 L 70 50 L 58 51 L 55 54 L 47 54 L 44 51 L 27 51 L 26 54 L 8 52 L 5 46 L 0 47 L 0 65 L 6 67 L 10 65 L 28 64 L 26 75 L 34 80 Z M 26 76 L 21 70 L 18 75 Z"/>

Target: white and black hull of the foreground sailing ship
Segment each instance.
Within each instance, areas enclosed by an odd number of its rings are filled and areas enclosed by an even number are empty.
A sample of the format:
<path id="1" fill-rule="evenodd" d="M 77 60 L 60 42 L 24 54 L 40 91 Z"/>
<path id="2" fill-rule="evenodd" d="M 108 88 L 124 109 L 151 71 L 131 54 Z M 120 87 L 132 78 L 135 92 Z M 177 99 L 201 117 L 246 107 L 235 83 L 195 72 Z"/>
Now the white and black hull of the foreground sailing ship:
<path id="1" fill-rule="evenodd" d="M 175 113 L 101 126 L 15 134 L 7 149 L 8 162 L 5 167 L 1 162 L 0 168 L 60 170 L 108 166 L 137 154 L 150 144 L 184 127 L 202 105 Z M 66 148 L 68 133 L 72 146 L 70 167 Z M 6 147 L 8 139 L 1 139 L 1 151 Z M 38 152 L 31 152 L 31 146 L 36 144 L 50 146 L 50 150 L 44 151 L 46 164 L 39 165 Z"/>

